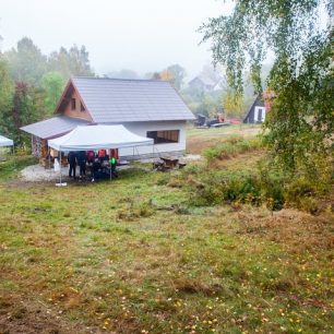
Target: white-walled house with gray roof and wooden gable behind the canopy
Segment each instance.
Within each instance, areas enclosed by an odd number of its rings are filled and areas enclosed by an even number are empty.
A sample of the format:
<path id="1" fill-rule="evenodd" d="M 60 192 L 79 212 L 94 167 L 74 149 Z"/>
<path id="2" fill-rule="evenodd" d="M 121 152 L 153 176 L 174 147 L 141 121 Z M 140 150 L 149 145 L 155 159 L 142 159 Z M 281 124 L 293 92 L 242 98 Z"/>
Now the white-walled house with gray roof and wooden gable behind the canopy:
<path id="1" fill-rule="evenodd" d="M 80 124 L 122 124 L 135 134 L 154 139 L 154 147 L 119 151 L 120 157 L 133 159 L 165 153 L 182 155 L 186 122 L 193 119 L 168 82 L 76 76 L 68 82 L 53 118 L 21 130 L 32 135 L 33 154 L 45 158 L 47 140 L 61 136 Z"/>

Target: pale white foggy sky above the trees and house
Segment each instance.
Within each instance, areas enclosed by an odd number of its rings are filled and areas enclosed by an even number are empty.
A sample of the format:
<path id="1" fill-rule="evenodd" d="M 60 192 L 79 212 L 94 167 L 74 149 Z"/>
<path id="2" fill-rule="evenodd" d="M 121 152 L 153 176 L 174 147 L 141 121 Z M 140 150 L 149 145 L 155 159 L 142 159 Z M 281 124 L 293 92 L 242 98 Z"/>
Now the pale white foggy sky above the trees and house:
<path id="1" fill-rule="evenodd" d="M 1 50 L 23 36 L 44 53 L 85 45 L 97 74 L 179 63 L 189 79 L 211 61 L 196 29 L 230 9 L 223 0 L 0 0 Z"/>

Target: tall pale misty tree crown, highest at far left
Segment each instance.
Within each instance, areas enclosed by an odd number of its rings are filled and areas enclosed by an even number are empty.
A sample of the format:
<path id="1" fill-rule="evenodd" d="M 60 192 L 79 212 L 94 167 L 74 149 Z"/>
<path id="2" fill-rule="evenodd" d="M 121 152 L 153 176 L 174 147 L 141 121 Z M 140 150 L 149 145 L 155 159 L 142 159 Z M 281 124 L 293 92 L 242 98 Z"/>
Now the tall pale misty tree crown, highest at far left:
<path id="1" fill-rule="evenodd" d="M 24 37 L 16 49 L 4 52 L 11 76 L 14 81 L 37 85 L 46 71 L 46 57 L 32 39 Z"/>

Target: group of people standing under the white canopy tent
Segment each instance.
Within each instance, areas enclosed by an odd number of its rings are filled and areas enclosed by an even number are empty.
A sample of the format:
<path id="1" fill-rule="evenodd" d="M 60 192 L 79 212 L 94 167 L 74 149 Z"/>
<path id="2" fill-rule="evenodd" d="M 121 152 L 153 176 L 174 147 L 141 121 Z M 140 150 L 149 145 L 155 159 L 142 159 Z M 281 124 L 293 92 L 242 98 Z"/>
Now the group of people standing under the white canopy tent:
<path id="1" fill-rule="evenodd" d="M 76 166 L 79 166 L 80 179 L 86 177 L 87 167 L 90 169 L 92 182 L 97 179 L 110 177 L 110 172 L 112 177 L 117 178 L 117 158 L 118 156 L 115 153 L 115 150 L 110 150 L 110 155 L 107 154 L 106 150 L 99 150 L 97 153 L 94 151 L 69 152 L 69 177 L 73 177 L 74 179 L 76 178 Z"/>

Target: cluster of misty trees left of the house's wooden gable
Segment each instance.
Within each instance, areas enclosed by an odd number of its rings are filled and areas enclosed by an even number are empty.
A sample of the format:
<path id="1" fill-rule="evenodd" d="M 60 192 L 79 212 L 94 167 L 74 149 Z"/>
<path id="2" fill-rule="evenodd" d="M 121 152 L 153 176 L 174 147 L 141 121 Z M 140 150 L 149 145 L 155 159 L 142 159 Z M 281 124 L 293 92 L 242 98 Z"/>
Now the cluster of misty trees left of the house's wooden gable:
<path id="1" fill-rule="evenodd" d="M 22 144 L 20 127 L 50 117 L 71 75 L 94 75 L 84 46 L 43 55 L 24 37 L 0 51 L 0 132 Z"/>

